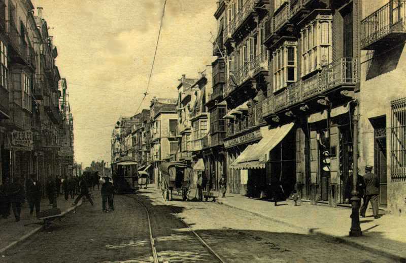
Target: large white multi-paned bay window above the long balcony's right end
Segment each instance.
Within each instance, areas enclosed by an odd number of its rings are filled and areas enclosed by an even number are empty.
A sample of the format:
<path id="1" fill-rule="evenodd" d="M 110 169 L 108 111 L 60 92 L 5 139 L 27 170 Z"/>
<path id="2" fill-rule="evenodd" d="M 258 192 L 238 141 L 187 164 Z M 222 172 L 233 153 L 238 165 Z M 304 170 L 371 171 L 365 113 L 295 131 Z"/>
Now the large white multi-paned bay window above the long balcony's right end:
<path id="1" fill-rule="evenodd" d="M 331 63 L 331 16 L 316 19 L 301 30 L 301 76 Z"/>

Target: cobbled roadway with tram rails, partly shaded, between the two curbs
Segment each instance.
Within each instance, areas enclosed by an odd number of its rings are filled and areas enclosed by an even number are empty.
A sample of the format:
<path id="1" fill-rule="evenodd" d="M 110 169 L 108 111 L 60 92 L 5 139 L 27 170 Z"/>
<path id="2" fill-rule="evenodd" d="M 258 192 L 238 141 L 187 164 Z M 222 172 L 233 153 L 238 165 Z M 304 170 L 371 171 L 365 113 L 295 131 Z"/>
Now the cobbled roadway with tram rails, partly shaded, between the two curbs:
<path id="1" fill-rule="evenodd" d="M 183 220 L 227 262 L 390 262 L 379 255 L 308 235 L 213 202 L 166 204 L 152 187 L 116 195 L 116 210 L 85 202 L 77 213 L 51 225 L 11 250 L 0 262 L 151 262 L 146 205 L 160 262 L 216 262 Z"/>

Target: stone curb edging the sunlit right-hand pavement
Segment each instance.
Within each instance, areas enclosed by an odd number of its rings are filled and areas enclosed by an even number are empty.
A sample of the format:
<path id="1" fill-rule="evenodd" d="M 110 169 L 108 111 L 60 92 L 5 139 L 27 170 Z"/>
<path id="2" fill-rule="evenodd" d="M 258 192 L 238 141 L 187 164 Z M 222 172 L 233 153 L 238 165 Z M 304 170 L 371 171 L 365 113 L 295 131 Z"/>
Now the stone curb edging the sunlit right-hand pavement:
<path id="1" fill-rule="evenodd" d="M 356 247 L 358 249 L 367 250 L 368 252 L 379 254 L 381 256 L 384 256 L 384 257 L 387 257 L 387 258 L 390 258 L 390 259 L 394 259 L 394 260 L 396 260 L 398 262 L 402 262 L 402 263 L 406 262 L 406 257 L 405 256 L 398 255 L 398 254 L 388 252 L 388 251 L 384 251 L 384 250 L 382 250 L 382 249 L 380 249 L 378 247 L 361 244 L 361 243 L 356 242 L 356 241 L 348 240 L 348 238 L 337 237 L 337 236 L 334 236 L 334 235 L 331 235 L 331 234 L 328 234 L 328 233 L 324 233 L 323 231 L 319 231 L 319 230 L 315 230 L 315 229 L 309 229 L 307 227 L 298 226 L 296 224 L 291 224 L 291 223 L 288 223 L 286 221 L 283 221 L 283 220 L 280 220 L 280 219 L 277 219 L 277 218 L 269 217 L 269 216 L 266 216 L 266 215 L 263 215 L 263 214 L 260 214 L 260 213 L 248 211 L 248 210 L 245 210 L 245 209 L 240 208 L 240 207 L 236 207 L 236 206 L 233 206 L 233 205 L 230 205 L 230 204 L 223 203 L 220 200 L 216 200 L 216 203 L 221 204 L 221 205 L 225 205 L 225 206 L 228 206 L 228 207 L 231 207 L 231 208 L 235 208 L 235 209 L 238 209 L 238 210 L 241 210 L 241 211 L 249 212 L 249 213 L 255 214 L 255 215 L 259 216 L 259 217 L 266 218 L 267 220 L 271 220 L 271 221 L 274 221 L 276 223 L 279 223 L 279 224 L 282 224 L 282 225 L 285 225 L 285 226 L 288 226 L 288 227 L 305 230 L 309 234 L 318 235 L 318 236 L 327 238 L 327 239 L 332 240 L 332 241 L 340 241 L 341 243 L 351 245 L 351 246 Z"/>

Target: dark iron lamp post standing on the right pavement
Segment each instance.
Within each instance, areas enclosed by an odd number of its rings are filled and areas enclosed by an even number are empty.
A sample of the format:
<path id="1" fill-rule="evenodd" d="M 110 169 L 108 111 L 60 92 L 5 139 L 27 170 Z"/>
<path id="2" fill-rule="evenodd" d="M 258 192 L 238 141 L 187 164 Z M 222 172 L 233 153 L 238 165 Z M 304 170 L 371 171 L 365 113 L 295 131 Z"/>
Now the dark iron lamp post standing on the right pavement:
<path id="1" fill-rule="evenodd" d="M 354 118 L 353 118 L 353 175 L 352 175 L 352 213 L 351 213 L 351 229 L 350 237 L 362 236 L 361 227 L 359 224 L 359 203 L 360 198 L 357 191 L 357 177 L 358 177 L 358 101 L 355 101 Z"/>

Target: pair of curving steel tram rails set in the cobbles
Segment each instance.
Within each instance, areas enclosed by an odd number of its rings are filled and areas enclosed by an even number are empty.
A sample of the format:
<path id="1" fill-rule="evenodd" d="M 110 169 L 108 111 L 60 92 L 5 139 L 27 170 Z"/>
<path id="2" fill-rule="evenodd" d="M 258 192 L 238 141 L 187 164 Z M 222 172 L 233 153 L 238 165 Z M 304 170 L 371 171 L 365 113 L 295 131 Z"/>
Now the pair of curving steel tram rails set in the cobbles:
<path id="1" fill-rule="evenodd" d="M 140 201 L 139 198 L 137 198 L 135 195 L 131 195 L 131 196 L 129 196 L 129 197 L 131 197 L 131 199 L 134 199 L 137 203 L 139 203 L 139 204 L 144 208 L 144 210 L 145 210 L 145 212 L 146 212 L 146 214 L 147 214 L 148 228 L 149 228 L 149 237 L 150 237 L 150 244 L 151 244 L 152 255 L 153 255 L 154 263 L 159 263 L 158 253 L 156 252 L 155 239 L 154 239 L 154 235 L 153 235 L 153 232 L 152 232 L 152 224 L 151 224 L 150 212 L 149 212 L 147 206 L 146 206 L 142 201 Z M 178 213 L 175 209 L 173 209 L 173 207 L 168 206 L 167 204 L 165 204 L 164 202 L 161 202 L 161 201 L 159 201 L 159 200 L 155 200 L 155 201 L 157 201 L 157 202 L 159 202 L 159 203 L 165 205 L 167 208 L 169 208 L 169 209 L 176 215 L 176 218 L 177 218 L 180 222 L 182 222 L 182 224 L 189 230 L 189 232 L 191 232 L 191 233 L 195 236 L 195 238 L 202 244 L 202 246 L 204 246 L 204 247 L 208 250 L 208 252 L 209 252 L 211 255 L 213 255 L 213 256 L 218 260 L 218 262 L 221 262 L 221 263 L 225 263 L 225 262 L 226 262 L 226 261 L 224 261 L 224 259 L 223 259 L 216 251 L 214 251 L 214 249 L 213 249 L 209 244 L 207 244 L 207 243 L 204 241 L 204 239 L 202 239 L 202 237 L 201 237 L 199 234 L 197 234 L 197 233 L 181 218 L 181 216 L 179 215 L 179 213 Z"/>

